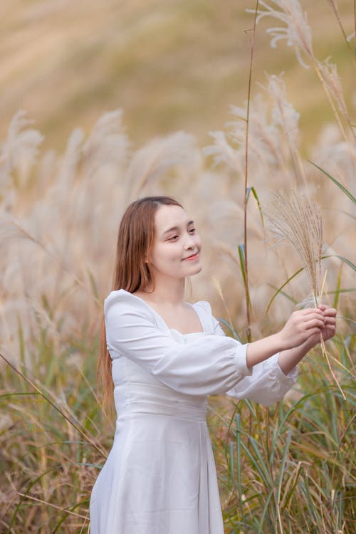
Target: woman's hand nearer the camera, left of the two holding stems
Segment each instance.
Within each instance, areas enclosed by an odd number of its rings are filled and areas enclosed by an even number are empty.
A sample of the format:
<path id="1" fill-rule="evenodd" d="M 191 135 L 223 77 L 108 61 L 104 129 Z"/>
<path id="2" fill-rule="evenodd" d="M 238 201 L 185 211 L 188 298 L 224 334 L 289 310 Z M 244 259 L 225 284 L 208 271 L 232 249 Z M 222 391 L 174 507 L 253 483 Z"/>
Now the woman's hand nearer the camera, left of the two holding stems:
<path id="1" fill-rule="evenodd" d="M 281 340 L 282 350 L 286 350 L 302 345 L 309 337 L 320 333 L 323 328 L 325 328 L 323 310 L 307 308 L 294 311 L 277 335 Z"/>

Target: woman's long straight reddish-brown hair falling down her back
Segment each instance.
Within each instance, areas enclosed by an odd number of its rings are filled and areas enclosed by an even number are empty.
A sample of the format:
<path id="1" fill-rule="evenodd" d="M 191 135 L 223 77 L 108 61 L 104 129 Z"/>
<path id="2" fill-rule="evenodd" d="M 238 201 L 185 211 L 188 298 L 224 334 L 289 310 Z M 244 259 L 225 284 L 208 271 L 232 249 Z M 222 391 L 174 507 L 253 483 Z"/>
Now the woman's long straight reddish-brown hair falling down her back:
<path id="1" fill-rule="evenodd" d="M 127 207 L 117 235 L 112 291 L 135 291 L 155 287 L 150 254 L 155 241 L 155 213 L 159 206 L 180 206 L 172 197 L 144 197 Z M 103 393 L 103 408 L 113 412 L 112 360 L 106 346 L 105 317 L 100 328 L 100 356 L 97 367 L 98 389 Z"/>

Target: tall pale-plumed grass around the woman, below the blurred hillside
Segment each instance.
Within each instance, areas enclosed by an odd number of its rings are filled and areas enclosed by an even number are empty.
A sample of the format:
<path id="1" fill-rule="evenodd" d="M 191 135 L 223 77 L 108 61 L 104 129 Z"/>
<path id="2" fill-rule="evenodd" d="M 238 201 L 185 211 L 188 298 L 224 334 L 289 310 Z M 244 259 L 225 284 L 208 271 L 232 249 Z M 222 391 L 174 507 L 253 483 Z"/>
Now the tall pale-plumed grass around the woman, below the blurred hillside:
<path id="1" fill-rule="evenodd" d="M 323 211 L 324 300 L 337 305 L 339 318 L 328 350 L 346 399 L 319 349 L 275 407 L 211 399 L 226 533 L 353 532 L 355 120 L 330 61 L 328 78 L 315 58 L 299 2 L 274 1 L 276 10 L 259 4 L 257 20 L 268 11 L 288 31 L 299 23 L 305 38 L 290 33 L 290 42 L 304 64 L 319 68 L 333 105 L 335 124 L 320 130 L 307 155 L 299 114 L 276 75 L 266 75 L 259 93 L 251 85 L 247 102 L 231 108 L 233 120 L 211 133 L 205 159 L 184 132 L 134 150 L 120 110 L 105 113 L 88 135 L 73 130 L 60 155 L 41 150 L 43 137 L 24 112 L 9 125 L 0 157 L 1 532 L 88 531 L 90 490 L 115 426 L 100 408 L 95 365 L 127 202 L 160 192 L 183 202 L 204 243 L 193 300 L 210 300 L 215 315 L 228 317 L 226 332 L 237 337 L 245 326 L 249 336 L 251 327 L 256 338 L 280 328 L 308 294 L 298 255 L 269 248 L 263 219 L 271 190 L 294 183 L 303 194 L 315 189 Z"/>

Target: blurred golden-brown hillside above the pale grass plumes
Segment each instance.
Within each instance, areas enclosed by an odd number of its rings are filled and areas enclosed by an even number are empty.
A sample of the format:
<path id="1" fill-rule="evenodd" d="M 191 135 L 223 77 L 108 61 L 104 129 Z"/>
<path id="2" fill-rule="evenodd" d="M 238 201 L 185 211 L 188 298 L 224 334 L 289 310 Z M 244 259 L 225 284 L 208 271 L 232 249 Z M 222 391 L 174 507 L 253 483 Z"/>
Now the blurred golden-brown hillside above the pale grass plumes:
<path id="1" fill-rule="evenodd" d="M 313 48 L 331 56 L 347 104 L 355 106 L 350 68 L 330 3 L 302 1 Z M 105 111 L 122 108 L 135 146 L 155 135 L 186 130 L 200 145 L 229 120 L 229 105 L 247 96 L 255 1 L 236 0 L 2 0 L 0 133 L 19 109 L 36 120 L 45 147 L 63 150 L 73 127 L 86 131 Z M 351 0 L 337 1 L 347 35 Z M 300 70 L 292 46 L 271 48 L 261 21 L 252 91 L 264 72 L 280 74 L 300 112 L 303 145 L 333 120 L 313 69 Z M 278 24 L 279 26 L 279 24 Z"/>

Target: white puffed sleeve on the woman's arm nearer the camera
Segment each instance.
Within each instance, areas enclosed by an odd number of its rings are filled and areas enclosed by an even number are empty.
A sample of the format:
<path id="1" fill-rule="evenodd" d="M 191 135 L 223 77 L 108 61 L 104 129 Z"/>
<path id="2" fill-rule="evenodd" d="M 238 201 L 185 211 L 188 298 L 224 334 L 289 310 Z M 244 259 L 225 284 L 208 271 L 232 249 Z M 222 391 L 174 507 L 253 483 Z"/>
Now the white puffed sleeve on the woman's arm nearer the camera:
<path id="1" fill-rule="evenodd" d="M 246 366 L 247 345 L 205 331 L 193 337 L 177 330 L 177 335 L 166 333 L 157 324 L 154 310 L 125 290 L 110 293 L 104 313 L 112 360 L 125 356 L 176 391 L 224 393 L 251 374 Z"/>

